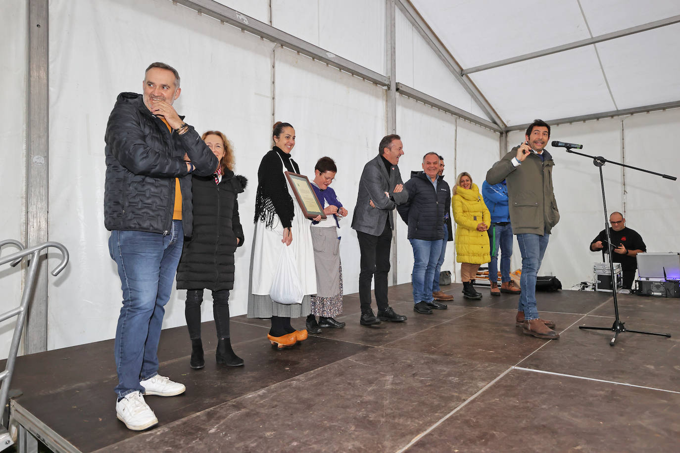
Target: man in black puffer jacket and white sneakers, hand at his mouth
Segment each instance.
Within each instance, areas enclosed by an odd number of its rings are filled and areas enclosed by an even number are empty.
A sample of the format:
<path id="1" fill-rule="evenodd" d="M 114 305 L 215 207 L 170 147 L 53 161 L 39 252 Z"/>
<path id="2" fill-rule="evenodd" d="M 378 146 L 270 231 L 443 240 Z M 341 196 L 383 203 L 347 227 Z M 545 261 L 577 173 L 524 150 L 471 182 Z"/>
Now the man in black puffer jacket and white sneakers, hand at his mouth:
<path id="1" fill-rule="evenodd" d="M 118 96 L 104 138 L 104 225 L 123 293 L 114 346 L 116 416 L 134 430 L 158 423 L 142 395 L 185 390 L 158 374 L 158 340 L 184 235 L 191 235 L 191 173 L 211 175 L 218 166 L 172 106 L 180 91 L 177 71 L 152 63 L 143 94 Z"/>

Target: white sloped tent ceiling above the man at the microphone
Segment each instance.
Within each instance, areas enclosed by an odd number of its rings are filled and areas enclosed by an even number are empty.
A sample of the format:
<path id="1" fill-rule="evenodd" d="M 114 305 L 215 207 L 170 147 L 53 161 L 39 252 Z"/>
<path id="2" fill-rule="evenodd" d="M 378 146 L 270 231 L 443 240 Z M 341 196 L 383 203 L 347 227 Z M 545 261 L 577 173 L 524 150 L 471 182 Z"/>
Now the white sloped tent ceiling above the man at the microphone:
<path id="1" fill-rule="evenodd" d="M 677 0 L 411 0 L 463 69 L 680 15 Z M 512 126 L 680 101 L 680 24 L 469 74 Z M 675 56 L 674 56 L 675 55 Z"/>

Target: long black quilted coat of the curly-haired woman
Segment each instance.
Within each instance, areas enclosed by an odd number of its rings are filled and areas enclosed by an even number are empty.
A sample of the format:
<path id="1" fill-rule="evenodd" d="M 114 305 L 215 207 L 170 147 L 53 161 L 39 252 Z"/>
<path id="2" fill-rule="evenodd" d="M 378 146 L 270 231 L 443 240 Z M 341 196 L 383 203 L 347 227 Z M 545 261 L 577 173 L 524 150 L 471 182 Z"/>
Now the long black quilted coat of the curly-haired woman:
<path id="1" fill-rule="evenodd" d="M 219 184 L 212 176 L 194 176 L 192 183 L 194 232 L 184 240 L 177 289 L 233 289 L 236 238 L 243 245 L 237 196 L 248 180 L 226 170 Z"/>

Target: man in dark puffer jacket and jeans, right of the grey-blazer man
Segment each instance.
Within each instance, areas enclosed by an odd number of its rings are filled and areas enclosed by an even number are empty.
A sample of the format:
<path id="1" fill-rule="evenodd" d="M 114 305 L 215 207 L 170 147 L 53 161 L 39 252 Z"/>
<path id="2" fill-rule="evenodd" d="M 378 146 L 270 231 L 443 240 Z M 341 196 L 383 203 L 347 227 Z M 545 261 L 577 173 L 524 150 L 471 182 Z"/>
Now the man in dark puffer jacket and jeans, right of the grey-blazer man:
<path id="1" fill-rule="evenodd" d="M 432 308 L 443 310 L 445 304 L 435 302 L 432 283 L 444 238 L 444 214 L 451 200 L 446 181 L 439 178 L 439 154 L 423 156 L 423 173 L 405 183 L 409 200 L 396 206 L 409 225 L 409 242 L 413 247 L 413 311 L 432 314 Z"/>

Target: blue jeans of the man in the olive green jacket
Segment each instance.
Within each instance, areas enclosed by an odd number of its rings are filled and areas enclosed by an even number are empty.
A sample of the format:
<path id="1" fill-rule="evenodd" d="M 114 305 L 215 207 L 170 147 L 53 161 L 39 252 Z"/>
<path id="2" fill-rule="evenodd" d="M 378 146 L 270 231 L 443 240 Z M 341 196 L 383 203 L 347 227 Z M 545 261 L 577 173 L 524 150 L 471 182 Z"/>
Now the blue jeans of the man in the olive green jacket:
<path id="1" fill-rule="evenodd" d="M 541 261 L 548 247 L 550 235 L 522 233 L 517 234 L 517 244 L 522 253 L 522 276 L 520 277 L 520 304 L 517 311 L 524 311 L 524 319 L 538 319 L 539 310 L 536 308 L 536 276 L 541 268 Z"/>

